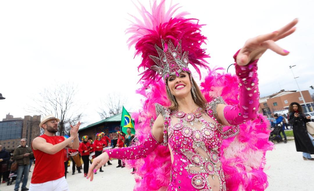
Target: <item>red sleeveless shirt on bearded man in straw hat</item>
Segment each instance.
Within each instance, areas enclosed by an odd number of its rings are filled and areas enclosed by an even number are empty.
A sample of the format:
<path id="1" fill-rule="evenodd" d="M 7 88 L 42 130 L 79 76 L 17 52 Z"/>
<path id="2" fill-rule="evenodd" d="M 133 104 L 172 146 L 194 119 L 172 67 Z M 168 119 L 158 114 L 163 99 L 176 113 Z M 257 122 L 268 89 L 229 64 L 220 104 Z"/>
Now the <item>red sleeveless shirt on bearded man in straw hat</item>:
<path id="1" fill-rule="evenodd" d="M 43 134 L 39 137 L 44 138 L 47 143 L 51 143 L 53 145 L 64 141 L 63 136 L 50 137 Z M 36 163 L 30 183 L 45 183 L 51 180 L 57 180 L 64 176 L 64 149 L 61 149 L 55 154 L 44 153 L 38 149 L 33 149 L 33 152 L 34 157 L 36 158 Z"/>

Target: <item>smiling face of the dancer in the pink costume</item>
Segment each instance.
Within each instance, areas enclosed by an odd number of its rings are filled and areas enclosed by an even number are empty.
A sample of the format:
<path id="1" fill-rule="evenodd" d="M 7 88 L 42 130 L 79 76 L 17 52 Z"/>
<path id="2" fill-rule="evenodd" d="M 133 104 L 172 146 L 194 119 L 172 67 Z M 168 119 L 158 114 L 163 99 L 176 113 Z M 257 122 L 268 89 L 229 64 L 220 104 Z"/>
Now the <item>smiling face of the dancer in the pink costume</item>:
<path id="1" fill-rule="evenodd" d="M 167 82 L 171 94 L 176 98 L 184 98 L 191 93 L 191 81 L 187 72 L 181 72 L 179 77 L 172 75 Z"/>

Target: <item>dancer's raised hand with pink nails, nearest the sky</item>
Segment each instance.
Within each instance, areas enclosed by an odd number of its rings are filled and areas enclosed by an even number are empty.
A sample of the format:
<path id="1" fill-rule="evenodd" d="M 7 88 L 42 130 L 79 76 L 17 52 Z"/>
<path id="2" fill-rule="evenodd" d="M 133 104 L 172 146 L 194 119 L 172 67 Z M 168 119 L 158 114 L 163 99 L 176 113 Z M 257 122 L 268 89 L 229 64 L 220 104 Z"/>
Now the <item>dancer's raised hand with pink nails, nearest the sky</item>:
<path id="1" fill-rule="evenodd" d="M 294 26 L 296 23 L 298 23 L 298 19 L 294 19 L 277 31 L 248 39 L 238 53 L 236 63 L 240 66 L 244 66 L 260 58 L 267 49 L 271 49 L 282 56 L 288 55 L 289 51 L 280 48 L 275 42 L 295 32 Z"/>

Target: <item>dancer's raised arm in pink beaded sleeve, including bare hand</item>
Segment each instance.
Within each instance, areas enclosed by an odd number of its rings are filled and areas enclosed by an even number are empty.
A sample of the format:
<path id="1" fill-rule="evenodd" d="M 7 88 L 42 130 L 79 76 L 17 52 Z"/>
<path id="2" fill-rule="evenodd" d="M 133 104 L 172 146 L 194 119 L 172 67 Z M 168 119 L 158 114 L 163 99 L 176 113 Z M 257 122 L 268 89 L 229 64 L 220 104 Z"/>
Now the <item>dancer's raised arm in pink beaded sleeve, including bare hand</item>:
<path id="1" fill-rule="evenodd" d="M 256 117 L 259 105 L 258 79 L 256 73 L 257 60 L 267 49 L 282 56 L 288 55 L 289 52 L 280 48 L 275 42 L 294 33 L 294 26 L 297 23 L 298 19 L 294 19 L 277 31 L 250 38 L 236 53 L 234 58 L 240 88 L 239 104 L 232 106 L 225 104 L 217 105 L 216 117 L 221 124 L 237 125 Z"/>

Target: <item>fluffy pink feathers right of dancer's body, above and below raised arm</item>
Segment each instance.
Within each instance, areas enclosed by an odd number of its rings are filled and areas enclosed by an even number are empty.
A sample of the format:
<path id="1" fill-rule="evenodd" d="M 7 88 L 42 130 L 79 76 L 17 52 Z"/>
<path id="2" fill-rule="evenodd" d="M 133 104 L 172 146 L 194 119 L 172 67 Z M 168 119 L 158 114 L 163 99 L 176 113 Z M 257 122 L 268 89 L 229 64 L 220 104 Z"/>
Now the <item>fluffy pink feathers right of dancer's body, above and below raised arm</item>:
<path id="1" fill-rule="evenodd" d="M 201 83 L 201 91 L 207 101 L 222 96 L 227 104 L 238 104 L 237 78 L 222 71 L 223 68 L 208 70 L 208 75 Z M 223 141 L 220 159 L 228 190 L 265 190 L 268 187 L 267 175 L 264 173 L 265 154 L 273 149 L 273 143 L 268 141 L 268 126 L 268 120 L 258 114 L 255 120 L 240 125 L 236 137 Z"/>

